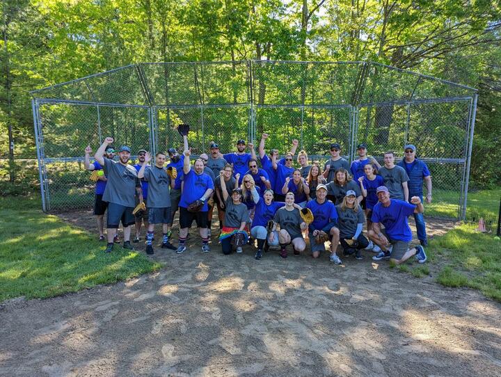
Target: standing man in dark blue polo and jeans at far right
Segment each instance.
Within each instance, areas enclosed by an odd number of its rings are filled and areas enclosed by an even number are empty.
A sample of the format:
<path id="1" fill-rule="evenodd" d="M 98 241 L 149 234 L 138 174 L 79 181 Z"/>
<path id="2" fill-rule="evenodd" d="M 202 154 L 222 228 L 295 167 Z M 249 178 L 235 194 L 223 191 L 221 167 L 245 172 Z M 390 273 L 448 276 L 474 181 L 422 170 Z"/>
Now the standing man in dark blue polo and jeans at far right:
<path id="1" fill-rule="evenodd" d="M 424 161 L 417 159 L 416 147 L 413 144 L 408 144 L 404 147 L 405 157 L 398 166 L 404 168 L 408 175 L 408 195 L 412 198 L 417 196 L 423 202 L 423 181 L 427 188 L 426 202 L 431 203 L 431 175 L 428 166 Z M 426 248 L 428 246 L 428 239 L 426 233 L 426 224 L 422 213 L 414 213 L 414 220 L 417 230 L 417 239 L 420 240 L 421 246 Z"/>

